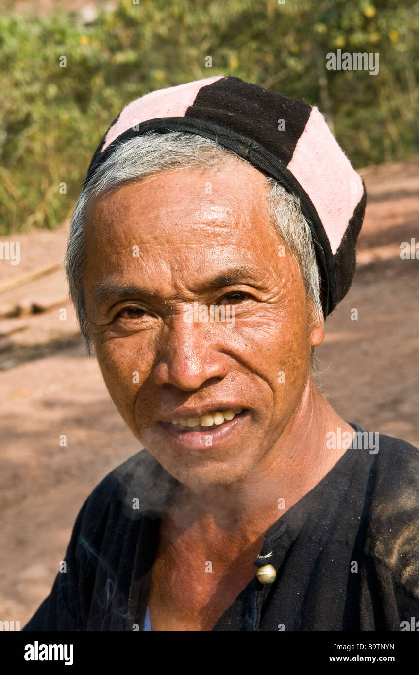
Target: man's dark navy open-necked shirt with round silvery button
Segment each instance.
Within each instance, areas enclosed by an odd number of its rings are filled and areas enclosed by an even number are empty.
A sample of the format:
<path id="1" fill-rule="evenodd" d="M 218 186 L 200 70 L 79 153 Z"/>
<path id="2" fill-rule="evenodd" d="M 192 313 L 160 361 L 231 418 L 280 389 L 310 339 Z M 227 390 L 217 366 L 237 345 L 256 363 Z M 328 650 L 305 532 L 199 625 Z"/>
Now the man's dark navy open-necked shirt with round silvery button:
<path id="1" fill-rule="evenodd" d="M 113 470 L 82 506 L 67 572 L 24 630 L 142 631 L 176 485 L 147 450 Z M 274 583 L 255 576 L 213 630 L 398 631 L 419 619 L 419 450 L 385 435 L 378 452 L 353 444 L 267 531 L 260 555 L 270 551 Z"/>

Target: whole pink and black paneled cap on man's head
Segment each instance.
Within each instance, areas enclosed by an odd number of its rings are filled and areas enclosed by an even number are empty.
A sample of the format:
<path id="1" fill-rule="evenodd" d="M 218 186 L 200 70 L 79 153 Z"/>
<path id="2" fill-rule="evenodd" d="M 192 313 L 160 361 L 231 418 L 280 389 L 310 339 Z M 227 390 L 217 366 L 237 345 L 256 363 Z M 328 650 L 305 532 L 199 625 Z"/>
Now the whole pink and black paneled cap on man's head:
<path id="1" fill-rule="evenodd" d="M 150 131 L 211 138 L 300 198 L 327 317 L 354 278 L 366 192 L 318 109 L 231 76 L 153 91 L 129 103 L 113 121 L 85 185 L 121 143 Z"/>

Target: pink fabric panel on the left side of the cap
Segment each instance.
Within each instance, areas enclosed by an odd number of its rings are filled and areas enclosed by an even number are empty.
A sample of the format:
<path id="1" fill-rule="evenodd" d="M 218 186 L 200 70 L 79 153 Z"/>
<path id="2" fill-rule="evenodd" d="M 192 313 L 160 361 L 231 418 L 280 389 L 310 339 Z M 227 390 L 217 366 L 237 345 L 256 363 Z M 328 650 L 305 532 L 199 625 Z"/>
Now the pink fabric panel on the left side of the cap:
<path id="1" fill-rule="evenodd" d="M 195 82 L 171 86 L 167 89 L 159 89 L 128 103 L 119 115 L 119 119 L 107 132 L 102 152 L 124 131 L 136 126 L 136 124 L 145 122 L 147 119 L 183 117 L 188 107 L 194 103 L 200 88 L 213 84 L 223 77 L 223 75 L 217 75 L 213 78 L 204 78 Z"/>

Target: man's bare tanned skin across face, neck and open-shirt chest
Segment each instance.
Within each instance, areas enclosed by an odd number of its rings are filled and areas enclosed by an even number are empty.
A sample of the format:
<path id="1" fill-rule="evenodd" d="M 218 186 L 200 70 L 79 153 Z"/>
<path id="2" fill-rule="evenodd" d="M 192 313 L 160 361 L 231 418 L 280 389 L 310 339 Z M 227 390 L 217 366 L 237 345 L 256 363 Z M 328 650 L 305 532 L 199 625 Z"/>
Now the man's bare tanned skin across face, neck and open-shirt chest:
<path id="1" fill-rule="evenodd" d="M 153 630 L 207 630 L 254 576 L 262 534 L 283 513 L 278 499 L 289 508 L 349 445 L 326 449 L 327 431 L 353 429 L 310 376 L 323 321 L 312 326 L 298 264 L 289 252 L 279 256 L 264 177 L 233 159 L 218 172 L 179 169 L 99 196 L 88 209 L 85 242 L 86 309 L 111 398 L 184 486 L 161 528 Z M 252 273 L 209 283 L 239 265 Z M 98 302 L 94 292 L 104 284 L 142 290 L 117 298 L 105 288 Z M 184 308 L 194 301 L 233 304 L 235 325 L 186 323 Z M 231 403 L 248 412 L 212 447 L 190 447 L 162 425 L 185 406 Z M 200 553 L 219 559 L 217 574 L 206 575 L 213 586 L 206 580 L 203 589 L 193 566 L 188 589 L 179 580 L 176 568 L 188 564 L 190 547 L 197 560 Z"/>

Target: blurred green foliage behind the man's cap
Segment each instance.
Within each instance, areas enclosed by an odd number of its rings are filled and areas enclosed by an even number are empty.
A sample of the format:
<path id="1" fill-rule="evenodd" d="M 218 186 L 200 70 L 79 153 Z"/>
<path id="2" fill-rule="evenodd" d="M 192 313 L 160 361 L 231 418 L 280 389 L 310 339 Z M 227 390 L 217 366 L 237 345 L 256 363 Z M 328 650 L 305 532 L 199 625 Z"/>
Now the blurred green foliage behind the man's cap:
<path id="1" fill-rule="evenodd" d="M 215 74 L 318 105 L 358 167 L 417 153 L 418 34 L 412 0 L 123 0 L 89 26 L 3 14 L 0 234 L 69 215 L 123 105 Z M 338 48 L 378 52 L 379 75 L 327 71 Z"/>

